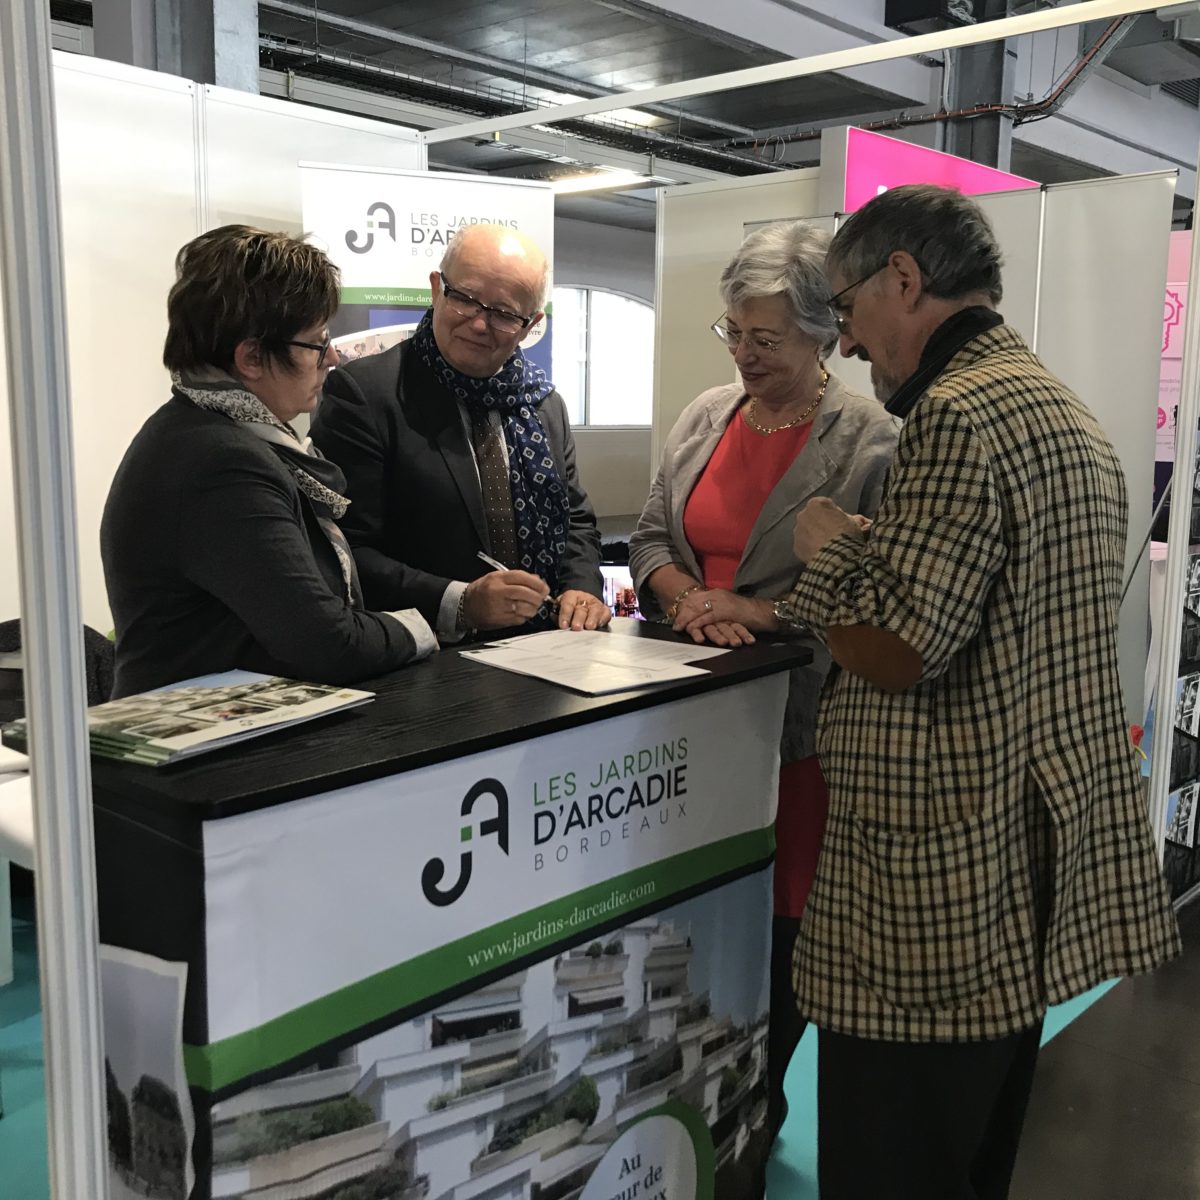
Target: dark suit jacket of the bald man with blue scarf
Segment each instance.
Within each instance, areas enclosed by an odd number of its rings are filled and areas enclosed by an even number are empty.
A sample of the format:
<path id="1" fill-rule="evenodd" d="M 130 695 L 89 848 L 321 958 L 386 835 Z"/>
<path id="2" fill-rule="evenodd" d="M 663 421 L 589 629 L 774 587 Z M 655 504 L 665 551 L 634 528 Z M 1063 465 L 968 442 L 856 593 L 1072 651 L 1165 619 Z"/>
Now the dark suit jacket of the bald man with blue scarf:
<path id="1" fill-rule="evenodd" d="M 367 606 L 418 608 L 436 625 L 449 583 L 488 571 L 475 553 L 491 544 L 458 406 L 409 349 L 404 342 L 332 371 L 312 439 L 346 472 L 352 503 L 341 526 Z M 600 534 L 562 396 L 551 392 L 539 413 L 571 505 L 558 586 L 600 595 Z"/>

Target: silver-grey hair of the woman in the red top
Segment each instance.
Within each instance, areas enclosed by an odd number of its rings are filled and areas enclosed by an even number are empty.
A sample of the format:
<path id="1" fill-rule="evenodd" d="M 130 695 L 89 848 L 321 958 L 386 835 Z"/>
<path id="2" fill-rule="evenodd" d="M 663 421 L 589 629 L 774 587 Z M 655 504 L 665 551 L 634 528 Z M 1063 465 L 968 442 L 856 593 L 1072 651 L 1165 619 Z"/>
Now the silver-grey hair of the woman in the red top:
<path id="1" fill-rule="evenodd" d="M 721 304 L 785 295 L 797 328 L 821 347 L 824 358 L 838 344 L 824 276 L 829 234 L 804 221 L 774 221 L 756 229 L 721 272 Z"/>

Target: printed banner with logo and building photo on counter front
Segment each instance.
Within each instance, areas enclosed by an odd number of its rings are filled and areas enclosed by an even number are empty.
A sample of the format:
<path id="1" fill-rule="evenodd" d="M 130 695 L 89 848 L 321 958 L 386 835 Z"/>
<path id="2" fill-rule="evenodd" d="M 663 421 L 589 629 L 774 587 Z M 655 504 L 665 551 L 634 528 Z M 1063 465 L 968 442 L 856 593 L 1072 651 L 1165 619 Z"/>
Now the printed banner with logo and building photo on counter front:
<path id="1" fill-rule="evenodd" d="M 212 1196 L 761 1194 L 786 690 L 209 822 Z"/>

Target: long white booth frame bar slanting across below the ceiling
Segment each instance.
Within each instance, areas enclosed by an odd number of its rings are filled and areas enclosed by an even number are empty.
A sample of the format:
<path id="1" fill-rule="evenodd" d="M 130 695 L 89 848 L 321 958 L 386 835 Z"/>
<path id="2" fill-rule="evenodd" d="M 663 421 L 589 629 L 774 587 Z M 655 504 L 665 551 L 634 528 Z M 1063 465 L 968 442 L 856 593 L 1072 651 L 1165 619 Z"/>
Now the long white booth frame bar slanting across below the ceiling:
<path id="1" fill-rule="evenodd" d="M 748 67 L 743 71 L 725 71 L 720 74 L 685 79 L 659 88 L 624 91 L 601 100 L 575 101 L 570 104 L 515 113 L 511 116 L 466 121 L 462 125 L 426 133 L 424 138 L 432 144 L 454 138 L 485 137 L 497 131 L 524 128 L 529 125 L 550 125 L 554 121 L 593 116 L 614 108 L 644 108 L 647 104 L 689 100 L 713 92 L 732 91 L 738 88 L 755 88 L 761 84 L 779 83 L 782 79 L 798 79 L 804 76 L 823 74 L 828 71 L 845 71 L 875 62 L 912 58 L 918 54 L 937 54 L 964 46 L 980 46 L 997 38 L 1021 37 L 1051 29 L 1066 29 L 1070 25 L 1081 25 L 1084 22 L 1111 20 L 1116 17 L 1128 17 L 1130 13 L 1150 12 L 1158 7 L 1159 2 L 1160 0 L 1150 0 L 1150 2 L 1146 0 L 1132 0 L 1132 2 L 1130 0 L 1086 0 L 1085 4 L 1040 10 L 1020 17 L 1006 17 L 1000 20 L 942 30 L 936 34 L 920 34 L 917 37 L 834 50 L 806 59 L 772 62 L 761 67 Z"/>

